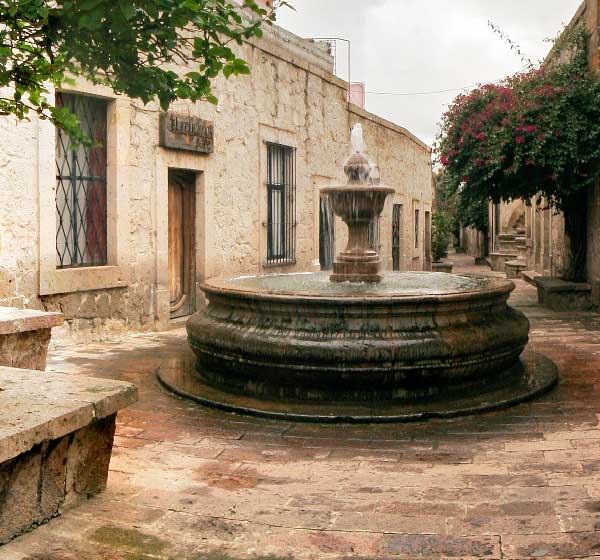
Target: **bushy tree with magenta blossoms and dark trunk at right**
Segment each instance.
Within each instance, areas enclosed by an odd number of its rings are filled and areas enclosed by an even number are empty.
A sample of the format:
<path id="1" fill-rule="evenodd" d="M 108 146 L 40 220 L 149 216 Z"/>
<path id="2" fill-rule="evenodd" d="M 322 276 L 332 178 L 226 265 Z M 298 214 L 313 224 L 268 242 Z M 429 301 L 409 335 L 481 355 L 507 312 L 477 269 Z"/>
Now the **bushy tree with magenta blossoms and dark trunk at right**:
<path id="1" fill-rule="evenodd" d="M 551 60 L 459 96 L 442 120 L 440 163 L 467 215 L 489 200 L 534 197 L 561 210 L 571 248 L 566 276 L 579 280 L 582 212 L 600 176 L 600 82 L 589 72 L 581 28 L 563 34 Z"/>

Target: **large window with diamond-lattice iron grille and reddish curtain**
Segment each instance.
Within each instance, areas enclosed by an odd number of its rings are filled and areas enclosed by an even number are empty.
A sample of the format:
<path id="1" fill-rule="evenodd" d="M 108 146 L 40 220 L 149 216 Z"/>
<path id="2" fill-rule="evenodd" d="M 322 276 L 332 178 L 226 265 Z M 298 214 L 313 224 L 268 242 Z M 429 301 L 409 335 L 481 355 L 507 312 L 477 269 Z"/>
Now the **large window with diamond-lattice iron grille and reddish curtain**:
<path id="1" fill-rule="evenodd" d="M 76 146 L 56 131 L 56 252 L 59 268 L 107 264 L 107 102 L 58 93 L 57 107 L 77 116 L 94 145 Z"/>

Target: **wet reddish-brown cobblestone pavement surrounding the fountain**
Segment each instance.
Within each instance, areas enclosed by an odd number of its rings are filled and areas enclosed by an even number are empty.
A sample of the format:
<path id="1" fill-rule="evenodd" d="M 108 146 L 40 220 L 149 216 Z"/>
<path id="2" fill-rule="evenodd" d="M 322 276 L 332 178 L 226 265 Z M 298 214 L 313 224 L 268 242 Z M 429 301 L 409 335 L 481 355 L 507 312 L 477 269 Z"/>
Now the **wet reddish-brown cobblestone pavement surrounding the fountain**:
<path id="1" fill-rule="evenodd" d="M 478 417 L 349 427 L 210 411 L 156 382 L 187 351 L 183 330 L 55 352 L 50 372 L 132 381 L 141 398 L 119 415 L 106 493 L 0 558 L 600 556 L 600 315 L 544 310 L 516 283 L 561 383 Z"/>

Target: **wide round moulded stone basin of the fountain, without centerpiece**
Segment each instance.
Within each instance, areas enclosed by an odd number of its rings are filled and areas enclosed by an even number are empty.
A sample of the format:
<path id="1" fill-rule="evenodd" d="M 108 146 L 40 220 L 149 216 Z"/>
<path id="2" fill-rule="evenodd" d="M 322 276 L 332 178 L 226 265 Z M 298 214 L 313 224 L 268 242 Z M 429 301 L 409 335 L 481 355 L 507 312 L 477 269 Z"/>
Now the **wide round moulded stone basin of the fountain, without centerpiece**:
<path id="1" fill-rule="evenodd" d="M 389 273 L 337 284 L 324 273 L 212 280 L 188 322 L 196 375 L 279 402 L 415 402 L 480 394 L 516 366 L 529 322 L 500 278 Z"/>

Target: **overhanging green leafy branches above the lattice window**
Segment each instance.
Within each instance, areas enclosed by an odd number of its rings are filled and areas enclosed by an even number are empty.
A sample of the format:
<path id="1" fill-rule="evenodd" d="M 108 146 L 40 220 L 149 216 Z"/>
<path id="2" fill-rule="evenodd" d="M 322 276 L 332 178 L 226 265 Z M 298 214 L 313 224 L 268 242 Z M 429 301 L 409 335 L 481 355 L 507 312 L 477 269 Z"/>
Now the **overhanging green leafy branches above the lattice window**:
<path id="1" fill-rule="evenodd" d="M 227 0 L 0 0 L 0 114 L 50 119 L 82 140 L 77 119 L 49 101 L 69 75 L 116 93 L 216 103 L 211 81 L 250 73 L 233 45 L 260 37 L 264 10 Z M 184 75 L 176 65 L 189 69 Z"/>

